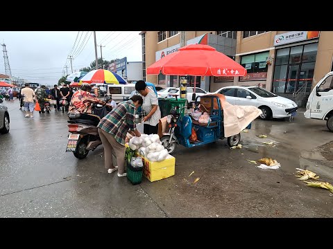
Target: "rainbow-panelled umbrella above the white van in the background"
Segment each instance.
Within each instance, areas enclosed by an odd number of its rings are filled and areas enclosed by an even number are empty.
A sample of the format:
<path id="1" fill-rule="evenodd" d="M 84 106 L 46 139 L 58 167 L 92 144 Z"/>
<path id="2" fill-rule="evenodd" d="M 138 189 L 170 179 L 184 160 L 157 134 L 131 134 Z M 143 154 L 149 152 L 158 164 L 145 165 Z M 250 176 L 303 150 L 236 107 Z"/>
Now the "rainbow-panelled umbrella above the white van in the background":
<path id="1" fill-rule="evenodd" d="M 110 72 L 105 69 L 97 69 L 90 71 L 80 79 L 80 83 L 104 83 L 104 84 L 128 84 L 117 73 Z"/>

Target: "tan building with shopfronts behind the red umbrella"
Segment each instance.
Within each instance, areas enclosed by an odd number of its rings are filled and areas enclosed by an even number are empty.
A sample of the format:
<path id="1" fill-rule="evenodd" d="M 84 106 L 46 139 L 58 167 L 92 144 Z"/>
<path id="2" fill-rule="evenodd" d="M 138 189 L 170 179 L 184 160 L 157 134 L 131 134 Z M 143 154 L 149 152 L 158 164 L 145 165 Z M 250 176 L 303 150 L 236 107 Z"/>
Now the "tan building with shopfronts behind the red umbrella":
<path id="1" fill-rule="evenodd" d="M 179 86 L 179 77 L 146 75 L 145 71 L 162 53 L 178 50 L 180 33 L 142 31 L 140 35 L 144 80 L 161 86 Z M 186 45 L 198 43 L 200 39 L 195 38 L 203 36 L 207 36 L 206 44 L 247 69 L 244 77 L 199 77 L 196 86 L 206 91 L 230 85 L 261 86 L 304 106 L 311 89 L 333 70 L 332 31 L 186 31 Z M 194 84 L 194 79 L 189 77 L 188 82 Z"/>

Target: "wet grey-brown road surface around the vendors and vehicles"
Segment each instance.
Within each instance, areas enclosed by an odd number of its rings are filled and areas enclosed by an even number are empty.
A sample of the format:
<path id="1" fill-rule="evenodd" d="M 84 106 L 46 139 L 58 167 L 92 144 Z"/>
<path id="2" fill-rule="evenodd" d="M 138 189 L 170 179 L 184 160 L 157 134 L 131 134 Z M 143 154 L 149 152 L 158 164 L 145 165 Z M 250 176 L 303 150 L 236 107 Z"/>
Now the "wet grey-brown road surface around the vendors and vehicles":
<path id="1" fill-rule="evenodd" d="M 333 216 L 333 194 L 295 176 L 296 167 L 310 169 L 333 184 L 333 145 L 321 147 L 333 133 L 302 113 L 292 122 L 255 120 L 241 133 L 242 149 L 229 149 L 226 140 L 179 146 L 175 176 L 132 185 L 105 172 L 102 146 L 83 160 L 65 152 L 66 113 L 52 109 L 28 119 L 17 99 L 5 104 L 10 133 L 0 135 L 0 217 Z M 262 143 L 271 141 L 275 147 Z M 278 160 L 280 169 L 247 161 L 262 157 Z"/>

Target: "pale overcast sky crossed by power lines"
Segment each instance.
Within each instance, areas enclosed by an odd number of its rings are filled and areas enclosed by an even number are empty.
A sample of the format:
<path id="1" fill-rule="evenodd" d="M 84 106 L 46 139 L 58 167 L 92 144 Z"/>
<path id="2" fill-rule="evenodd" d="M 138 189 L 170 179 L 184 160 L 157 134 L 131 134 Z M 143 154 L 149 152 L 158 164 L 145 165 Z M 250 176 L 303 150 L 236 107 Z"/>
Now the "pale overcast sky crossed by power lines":
<path id="1" fill-rule="evenodd" d="M 142 61 L 141 31 L 96 31 L 97 53 L 103 59 Z M 77 37 L 77 38 L 76 38 Z M 12 76 L 30 82 L 53 85 L 62 77 L 62 71 L 71 63 L 73 72 L 89 66 L 95 59 L 92 31 L 0 31 L 0 43 L 6 44 Z M 5 74 L 1 46 L 0 73 Z"/>

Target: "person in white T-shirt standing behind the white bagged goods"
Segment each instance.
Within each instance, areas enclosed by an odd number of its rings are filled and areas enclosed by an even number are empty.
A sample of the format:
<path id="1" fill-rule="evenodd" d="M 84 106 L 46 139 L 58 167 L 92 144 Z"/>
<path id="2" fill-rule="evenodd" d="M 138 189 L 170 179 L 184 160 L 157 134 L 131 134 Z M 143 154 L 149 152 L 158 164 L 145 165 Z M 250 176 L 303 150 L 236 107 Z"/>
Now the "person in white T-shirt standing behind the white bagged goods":
<path id="1" fill-rule="evenodd" d="M 161 111 L 158 106 L 157 96 L 153 91 L 148 89 L 146 82 L 143 80 L 139 80 L 135 83 L 135 90 L 142 95 L 142 98 L 144 99 L 142 109 L 145 113 L 148 113 L 143 119 L 144 133 L 147 135 L 157 134 L 158 122 L 161 118 Z"/>

